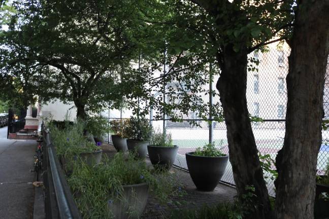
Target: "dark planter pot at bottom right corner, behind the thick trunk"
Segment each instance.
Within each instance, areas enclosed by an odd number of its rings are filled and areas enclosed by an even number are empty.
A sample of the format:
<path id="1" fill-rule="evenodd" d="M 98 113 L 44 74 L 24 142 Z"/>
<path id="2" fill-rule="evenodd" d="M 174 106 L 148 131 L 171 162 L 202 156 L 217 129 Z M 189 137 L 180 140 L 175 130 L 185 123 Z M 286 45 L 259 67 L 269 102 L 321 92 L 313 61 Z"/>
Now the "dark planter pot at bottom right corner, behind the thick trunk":
<path id="1" fill-rule="evenodd" d="M 324 219 L 329 218 L 329 201 L 320 199 L 319 196 L 321 193 L 329 194 L 329 186 L 316 184 L 315 188 L 315 201 L 314 201 L 314 218 L 315 219 Z"/>

